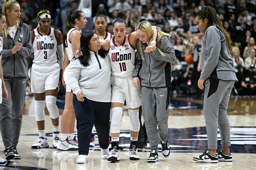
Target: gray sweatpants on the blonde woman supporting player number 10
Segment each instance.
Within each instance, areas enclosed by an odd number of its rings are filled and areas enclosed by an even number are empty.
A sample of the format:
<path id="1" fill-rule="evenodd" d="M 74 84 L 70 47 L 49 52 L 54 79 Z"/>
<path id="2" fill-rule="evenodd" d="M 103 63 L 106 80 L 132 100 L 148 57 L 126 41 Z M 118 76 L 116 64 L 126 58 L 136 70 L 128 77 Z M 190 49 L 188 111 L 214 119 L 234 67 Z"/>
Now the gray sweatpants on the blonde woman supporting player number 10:
<path id="1" fill-rule="evenodd" d="M 161 141 L 167 140 L 168 135 L 168 106 L 170 88 L 140 87 L 142 93 L 142 111 L 150 148 L 158 151 L 158 134 Z"/>

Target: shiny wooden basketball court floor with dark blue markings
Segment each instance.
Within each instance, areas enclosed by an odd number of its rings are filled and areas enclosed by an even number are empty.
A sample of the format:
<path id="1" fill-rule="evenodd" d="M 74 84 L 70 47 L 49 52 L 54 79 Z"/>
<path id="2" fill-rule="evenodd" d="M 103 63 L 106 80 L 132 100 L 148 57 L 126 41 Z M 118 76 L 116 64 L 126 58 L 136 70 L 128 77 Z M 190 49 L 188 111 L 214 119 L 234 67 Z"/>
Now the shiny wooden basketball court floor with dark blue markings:
<path id="1" fill-rule="evenodd" d="M 59 100 L 58 102 L 62 102 Z M 130 144 L 130 119 L 127 110 L 122 118 L 122 132 L 120 146 L 120 161 L 111 163 L 100 159 L 100 149 L 96 135 L 96 146 L 90 149 L 89 161 L 86 164 L 76 164 L 77 151 L 59 151 L 53 147 L 32 149 L 30 146 L 38 138 L 35 120 L 34 100 L 26 97 L 24 107 L 22 132 L 17 150 L 21 160 L 11 160 L 7 166 L 0 169 L 256 169 L 256 97 L 232 97 L 228 106 L 228 117 L 231 125 L 231 152 L 233 162 L 219 162 L 218 164 L 202 164 L 192 160 L 207 149 L 207 135 L 205 121 L 202 115 L 202 99 L 190 97 L 172 97 L 169 106 L 169 144 L 171 156 L 164 158 L 159 152 L 159 161 L 156 164 L 147 163 L 149 147 L 139 152 L 140 160 L 130 161 L 128 148 Z M 62 110 L 60 110 L 60 113 Z M 49 145 L 52 146 L 52 125 L 49 115 L 45 117 L 46 132 Z M 96 133 L 96 132 L 95 132 Z M 218 139 L 220 146 L 220 139 Z M 147 142 L 149 146 L 149 142 Z M 159 150 L 161 146 L 159 145 Z M 3 142 L 0 137 L 0 150 L 3 151 Z M 4 153 L 0 152 L 0 157 Z"/>

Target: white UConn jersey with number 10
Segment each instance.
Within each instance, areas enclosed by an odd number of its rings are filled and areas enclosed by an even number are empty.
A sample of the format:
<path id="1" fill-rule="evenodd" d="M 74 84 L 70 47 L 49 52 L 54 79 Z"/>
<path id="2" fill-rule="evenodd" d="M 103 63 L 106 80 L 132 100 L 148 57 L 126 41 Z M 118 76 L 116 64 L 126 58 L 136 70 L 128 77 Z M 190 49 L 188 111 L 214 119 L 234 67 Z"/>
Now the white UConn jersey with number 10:
<path id="1" fill-rule="evenodd" d="M 111 75 L 116 77 L 132 76 L 134 69 L 135 51 L 125 35 L 122 46 L 114 44 L 114 37 L 110 40 L 109 57 L 111 62 Z"/>

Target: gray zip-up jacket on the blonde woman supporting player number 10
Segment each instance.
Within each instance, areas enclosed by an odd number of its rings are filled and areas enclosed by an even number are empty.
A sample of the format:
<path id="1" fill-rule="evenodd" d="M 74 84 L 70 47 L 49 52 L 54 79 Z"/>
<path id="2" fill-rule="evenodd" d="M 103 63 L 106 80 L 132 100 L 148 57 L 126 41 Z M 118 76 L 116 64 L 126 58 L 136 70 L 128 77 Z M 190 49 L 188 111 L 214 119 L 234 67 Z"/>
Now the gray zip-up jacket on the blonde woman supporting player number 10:
<path id="1" fill-rule="evenodd" d="M 161 37 L 156 46 L 158 49 L 166 53 L 161 56 L 156 49 L 153 52 L 144 52 L 146 44 L 142 44 L 144 60 L 140 56 L 139 49 L 140 40 L 137 39 L 136 49 L 137 56 L 135 59 L 135 68 L 133 76 L 138 76 L 140 86 L 144 87 L 170 87 L 172 64 L 176 61 L 176 56 L 170 39 L 167 36 Z"/>

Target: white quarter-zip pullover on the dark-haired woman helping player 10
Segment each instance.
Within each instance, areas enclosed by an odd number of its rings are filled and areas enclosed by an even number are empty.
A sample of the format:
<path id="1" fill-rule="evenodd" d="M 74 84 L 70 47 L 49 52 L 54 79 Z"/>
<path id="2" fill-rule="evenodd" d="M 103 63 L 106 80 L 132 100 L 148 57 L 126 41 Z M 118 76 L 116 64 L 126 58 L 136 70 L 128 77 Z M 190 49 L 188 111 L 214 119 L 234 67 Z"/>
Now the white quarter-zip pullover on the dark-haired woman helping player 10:
<path id="1" fill-rule="evenodd" d="M 74 94 L 82 91 L 84 96 L 93 101 L 110 102 L 110 62 L 107 56 L 102 58 L 90 51 L 89 66 L 83 66 L 79 59 L 72 59 L 69 70 L 69 84 Z"/>

